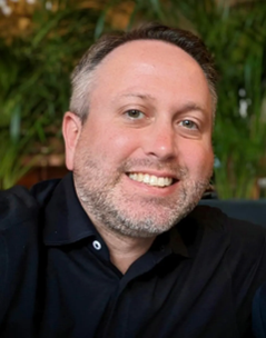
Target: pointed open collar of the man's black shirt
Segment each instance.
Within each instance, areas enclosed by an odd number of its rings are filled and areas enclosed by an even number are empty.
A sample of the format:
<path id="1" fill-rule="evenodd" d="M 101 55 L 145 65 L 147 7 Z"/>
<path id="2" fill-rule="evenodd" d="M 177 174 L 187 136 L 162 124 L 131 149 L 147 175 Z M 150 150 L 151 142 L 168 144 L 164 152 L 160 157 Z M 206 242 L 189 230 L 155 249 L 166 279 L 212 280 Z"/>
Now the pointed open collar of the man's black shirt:
<path id="1" fill-rule="evenodd" d="M 99 237 L 76 193 L 73 177 L 69 172 L 55 188 L 45 210 L 43 240 L 48 246 L 62 246 L 87 237 Z M 157 237 L 154 248 L 167 247 L 170 252 L 189 257 L 189 246 L 196 238 L 195 223 L 189 217 L 170 231 Z"/>

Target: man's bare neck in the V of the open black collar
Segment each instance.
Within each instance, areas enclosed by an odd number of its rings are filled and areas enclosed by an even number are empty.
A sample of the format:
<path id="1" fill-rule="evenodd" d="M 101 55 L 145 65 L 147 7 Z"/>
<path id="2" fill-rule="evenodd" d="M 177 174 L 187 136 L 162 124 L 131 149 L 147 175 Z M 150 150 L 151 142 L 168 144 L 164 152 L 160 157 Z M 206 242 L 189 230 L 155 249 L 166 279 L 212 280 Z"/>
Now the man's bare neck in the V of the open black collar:
<path id="1" fill-rule="evenodd" d="M 122 274 L 126 274 L 131 264 L 148 251 L 156 238 L 131 238 L 104 227 L 96 226 L 96 228 L 109 249 L 111 262 Z"/>

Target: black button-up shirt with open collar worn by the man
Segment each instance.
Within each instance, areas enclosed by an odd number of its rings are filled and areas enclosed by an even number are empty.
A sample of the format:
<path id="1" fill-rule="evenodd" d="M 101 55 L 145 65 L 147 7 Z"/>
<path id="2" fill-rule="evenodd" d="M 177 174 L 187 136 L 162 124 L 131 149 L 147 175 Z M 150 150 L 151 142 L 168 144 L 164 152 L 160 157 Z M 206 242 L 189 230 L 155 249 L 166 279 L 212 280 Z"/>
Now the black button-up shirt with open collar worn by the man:
<path id="1" fill-rule="evenodd" d="M 72 176 L 0 195 L 0 337 L 250 337 L 266 230 L 200 206 L 125 275 Z"/>

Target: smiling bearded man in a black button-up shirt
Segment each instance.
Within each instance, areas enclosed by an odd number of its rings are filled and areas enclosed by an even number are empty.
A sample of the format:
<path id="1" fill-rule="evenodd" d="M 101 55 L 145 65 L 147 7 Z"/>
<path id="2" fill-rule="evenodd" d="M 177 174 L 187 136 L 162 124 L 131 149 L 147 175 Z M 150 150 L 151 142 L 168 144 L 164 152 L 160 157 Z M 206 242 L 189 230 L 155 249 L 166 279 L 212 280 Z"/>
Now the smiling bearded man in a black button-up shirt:
<path id="1" fill-rule="evenodd" d="M 1 195 L 0 337 L 250 337 L 265 230 L 195 208 L 215 82 L 204 43 L 160 24 L 85 54 L 62 126 L 72 173 Z"/>

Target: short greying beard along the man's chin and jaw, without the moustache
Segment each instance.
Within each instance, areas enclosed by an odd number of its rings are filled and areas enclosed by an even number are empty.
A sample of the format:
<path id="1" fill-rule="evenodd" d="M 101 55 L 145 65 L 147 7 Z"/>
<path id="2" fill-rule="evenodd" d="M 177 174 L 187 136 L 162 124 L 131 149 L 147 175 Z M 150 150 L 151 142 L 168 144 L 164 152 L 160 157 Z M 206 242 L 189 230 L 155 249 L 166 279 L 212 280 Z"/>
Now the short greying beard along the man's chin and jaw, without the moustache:
<path id="1" fill-rule="evenodd" d="M 144 210 L 152 208 L 156 212 L 139 216 L 138 208 L 132 210 L 134 196 L 121 193 L 117 197 L 114 192 L 124 175 L 121 172 L 127 171 L 125 168 L 118 170 L 112 183 L 109 181 L 102 183 L 101 172 L 91 160 L 86 161 L 85 170 L 73 170 L 77 195 L 88 216 L 101 227 L 120 236 L 147 238 L 169 230 L 195 208 L 209 185 L 209 176 L 197 182 L 191 181 L 188 178 L 188 170 L 181 168 L 178 170 L 180 178 L 178 196 L 175 199 L 164 197 L 144 199 L 140 203 L 141 208 Z M 93 173 L 91 178 L 85 175 L 90 170 Z M 97 187 L 96 182 L 100 185 Z M 136 198 L 138 198 L 137 195 Z M 119 201 L 122 201 L 122 208 Z"/>

